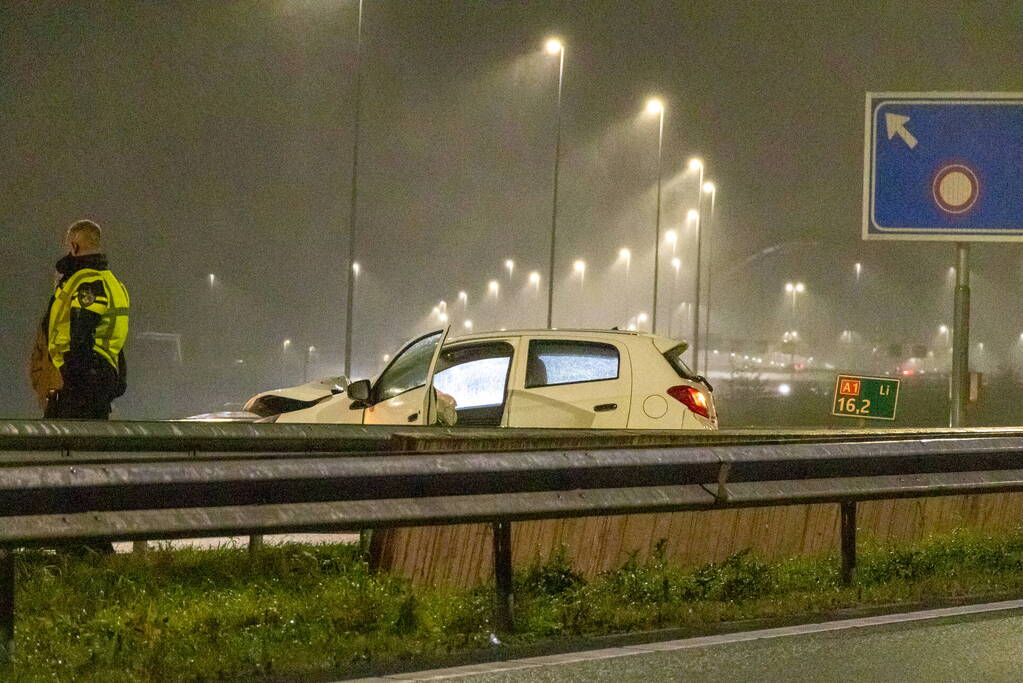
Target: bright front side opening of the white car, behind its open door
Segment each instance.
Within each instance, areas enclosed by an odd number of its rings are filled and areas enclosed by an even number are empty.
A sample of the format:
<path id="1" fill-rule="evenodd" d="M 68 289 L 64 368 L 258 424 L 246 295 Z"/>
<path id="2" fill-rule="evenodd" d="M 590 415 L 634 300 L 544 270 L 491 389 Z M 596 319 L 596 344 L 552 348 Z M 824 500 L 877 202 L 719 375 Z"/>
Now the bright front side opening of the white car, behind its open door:
<path id="1" fill-rule="evenodd" d="M 437 361 L 434 386 L 454 398 L 458 409 L 504 403 L 515 349 L 505 342 L 445 348 Z"/>

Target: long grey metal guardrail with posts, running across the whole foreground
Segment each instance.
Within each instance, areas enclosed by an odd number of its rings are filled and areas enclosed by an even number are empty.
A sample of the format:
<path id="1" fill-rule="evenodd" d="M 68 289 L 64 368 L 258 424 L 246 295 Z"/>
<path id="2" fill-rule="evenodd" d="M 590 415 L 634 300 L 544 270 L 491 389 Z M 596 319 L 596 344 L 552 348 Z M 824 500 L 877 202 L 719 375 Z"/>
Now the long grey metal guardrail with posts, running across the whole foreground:
<path id="1" fill-rule="evenodd" d="M 849 582 L 857 502 L 1010 491 L 1023 491 L 1020 429 L 3 422 L 0 642 L 12 646 L 21 546 L 487 522 L 497 623 L 509 631 L 516 521 L 837 503 Z"/>

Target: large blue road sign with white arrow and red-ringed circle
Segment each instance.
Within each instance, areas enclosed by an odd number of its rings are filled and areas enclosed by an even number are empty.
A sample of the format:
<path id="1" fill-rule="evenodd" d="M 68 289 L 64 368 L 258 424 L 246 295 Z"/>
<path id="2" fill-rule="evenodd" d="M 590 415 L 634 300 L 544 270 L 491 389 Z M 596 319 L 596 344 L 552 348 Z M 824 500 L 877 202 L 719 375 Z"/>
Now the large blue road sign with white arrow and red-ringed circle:
<path id="1" fill-rule="evenodd" d="M 1023 241 L 1023 93 L 866 93 L 863 239 Z"/>

